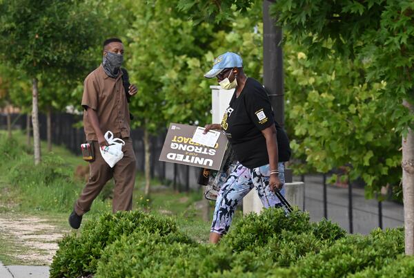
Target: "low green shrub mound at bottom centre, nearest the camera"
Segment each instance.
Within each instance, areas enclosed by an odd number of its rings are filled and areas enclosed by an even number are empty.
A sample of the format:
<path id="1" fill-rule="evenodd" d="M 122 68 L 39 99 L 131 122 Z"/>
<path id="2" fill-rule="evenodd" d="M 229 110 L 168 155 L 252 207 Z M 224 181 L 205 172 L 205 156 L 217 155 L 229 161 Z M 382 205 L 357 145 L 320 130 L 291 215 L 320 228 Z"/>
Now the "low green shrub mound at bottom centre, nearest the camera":
<path id="1" fill-rule="evenodd" d="M 95 277 L 268 277 L 288 273 L 250 251 L 234 253 L 224 245 L 171 241 L 169 236 L 135 234 L 108 246 Z"/>

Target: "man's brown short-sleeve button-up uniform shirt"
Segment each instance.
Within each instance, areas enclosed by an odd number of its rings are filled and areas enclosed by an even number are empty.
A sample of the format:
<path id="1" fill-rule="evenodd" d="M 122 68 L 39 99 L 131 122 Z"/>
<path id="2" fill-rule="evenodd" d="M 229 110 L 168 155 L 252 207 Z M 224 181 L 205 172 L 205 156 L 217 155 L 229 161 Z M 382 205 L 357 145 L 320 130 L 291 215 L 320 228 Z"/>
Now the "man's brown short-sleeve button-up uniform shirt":
<path id="1" fill-rule="evenodd" d="M 126 100 L 122 71 L 117 78 L 106 75 L 102 65 L 86 77 L 83 84 L 82 106 L 97 112 L 103 134 L 112 131 L 116 137 L 130 137 L 130 118 Z M 88 119 L 88 111 L 83 111 L 83 128 L 86 140 L 98 140 Z"/>

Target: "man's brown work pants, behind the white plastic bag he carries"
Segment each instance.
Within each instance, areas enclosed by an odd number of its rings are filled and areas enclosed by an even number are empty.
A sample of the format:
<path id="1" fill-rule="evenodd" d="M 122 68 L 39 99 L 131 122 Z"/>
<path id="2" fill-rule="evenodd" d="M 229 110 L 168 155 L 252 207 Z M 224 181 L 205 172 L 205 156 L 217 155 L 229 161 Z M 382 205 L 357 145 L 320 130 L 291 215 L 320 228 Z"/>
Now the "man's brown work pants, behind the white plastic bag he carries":
<path id="1" fill-rule="evenodd" d="M 135 153 L 132 149 L 132 139 L 122 138 L 125 145 L 122 147 L 124 157 L 113 168 L 103 160 L 97 141 L 93 141 L 95 160 L 89 163 L 89 181 L 75 202 L 75 212 L 83 215 L 90 210 L 92 202 L 97 198 L 103 186 L 112 177 L 115 180 L 112 211 L 132 210 L 132 191 L 135 184 Z"/>

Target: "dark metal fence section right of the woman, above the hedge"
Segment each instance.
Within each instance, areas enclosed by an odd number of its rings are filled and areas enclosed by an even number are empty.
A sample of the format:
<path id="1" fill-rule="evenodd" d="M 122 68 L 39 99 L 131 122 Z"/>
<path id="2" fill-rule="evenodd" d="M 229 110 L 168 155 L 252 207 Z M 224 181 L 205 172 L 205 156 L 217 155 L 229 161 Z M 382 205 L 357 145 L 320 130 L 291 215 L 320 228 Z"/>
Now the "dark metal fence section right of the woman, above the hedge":
<path id="1" fill-rule="evenodd" d="M 311 220 L 331 219 L 350 233 L 362 234 L 374 228 L 404 225 L 404 207 L 400 203 L 367 200 L 362 185 L 337 186 L 328 184 L 327 178 L 327 174 L 302 176 L 306 185 L 304 208 Z"/>

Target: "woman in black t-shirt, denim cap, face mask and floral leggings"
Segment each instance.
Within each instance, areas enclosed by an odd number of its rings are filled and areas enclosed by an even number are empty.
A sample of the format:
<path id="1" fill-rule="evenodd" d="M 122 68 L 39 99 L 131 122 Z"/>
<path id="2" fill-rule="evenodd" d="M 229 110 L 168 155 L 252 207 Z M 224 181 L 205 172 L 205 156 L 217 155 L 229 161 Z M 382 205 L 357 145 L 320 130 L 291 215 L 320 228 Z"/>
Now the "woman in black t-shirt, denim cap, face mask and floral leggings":
<path id="1" fill-rule="evenodd" d="M 220 55 L 204 76 L 217 77 L 223 89 L 235 89 L 221 124 L 207 124 L 205 131 L 224 131 L 238 160 L 217 196 L 210 230 L 210 242 L 217 243 L 228 232 L 237 204 L 253 187 L 264 207 L 281 206 L 274 189 L 284 194 L 284 162 L 290 158 L 290 147 L 264 87 L 244 74 L 239 55 Z"/>

